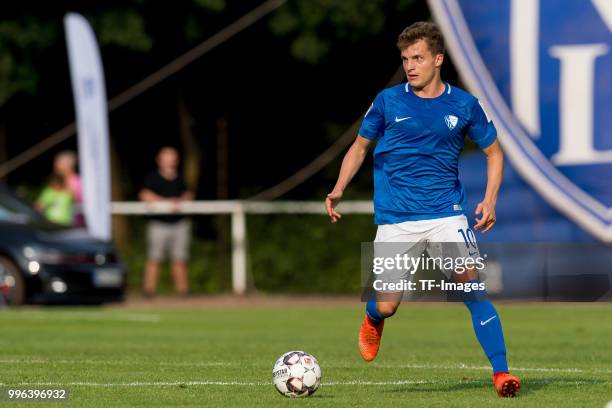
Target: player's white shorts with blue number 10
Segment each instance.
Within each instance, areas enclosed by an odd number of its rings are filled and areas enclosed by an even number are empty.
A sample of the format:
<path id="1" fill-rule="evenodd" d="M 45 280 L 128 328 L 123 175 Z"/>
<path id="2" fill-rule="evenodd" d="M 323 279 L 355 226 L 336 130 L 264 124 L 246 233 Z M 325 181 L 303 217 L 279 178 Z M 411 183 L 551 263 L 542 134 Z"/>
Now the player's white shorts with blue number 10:
<path id="1" fill-rule="evenodd" d="M 411 258 L 423 257 L 432 262 L 437 259 L 438 265 L 449 258 L 457 262 L 480 258 L 476 236 L 465 215 L 379 225 L 374 239 L 374 256 L 389 258 L 404 254 Z M 457 263 L 453 263 L 452 268 L 446 266 L 448 263 L 443 265 L 438 270 L 448 278 L 457 270 Z M 388 270 L 386 276 L 380 277 L 387 282 L 399 282 L 411 280 L 415 272 L 410 273 L 405 269 Z"/>

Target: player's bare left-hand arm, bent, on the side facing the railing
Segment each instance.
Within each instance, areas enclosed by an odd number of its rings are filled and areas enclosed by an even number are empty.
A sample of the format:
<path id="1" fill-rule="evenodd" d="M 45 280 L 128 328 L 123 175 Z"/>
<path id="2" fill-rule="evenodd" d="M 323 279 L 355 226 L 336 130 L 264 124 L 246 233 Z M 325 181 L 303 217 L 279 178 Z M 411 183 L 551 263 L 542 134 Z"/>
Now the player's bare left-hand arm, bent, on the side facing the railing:
<path id="1" fill-rule="evenodd" d="M 331 218 L 332 223 L 336 223 L 340 218 L 342 218 L 340 213 L 336 211 L 336 206 L 340 202 L 344 190 L 357 173 L 357 170 L 359 170 L 361 167 L 371 143 L 371 140 L 357 135 L 357 138 L 349 148 L 348 152 L 346 152 L 344 155 L 342 166 L 340 167 L 338 181 L 336 182 L 332 192 L 325 198 L 325 209 L 327 210 L 327 215 L 329 215 Z"/>

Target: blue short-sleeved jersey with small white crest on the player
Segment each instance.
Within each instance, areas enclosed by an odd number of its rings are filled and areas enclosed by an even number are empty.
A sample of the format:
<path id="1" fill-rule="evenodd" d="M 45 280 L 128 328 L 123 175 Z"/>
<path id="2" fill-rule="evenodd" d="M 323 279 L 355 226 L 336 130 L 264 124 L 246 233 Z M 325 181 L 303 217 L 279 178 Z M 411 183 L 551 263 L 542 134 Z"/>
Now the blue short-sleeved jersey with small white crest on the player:
<path id="1" fill-rule="evenodd" d="M 377 140 L 376 224 L 464 214 L 466 196 L 457 166 L 465 136 L 481 149 L 497 137 L 493 122 L 474 96 L 445 84 L 442 95 L 421 98 L 408 83 L 376 96 L 359 134 Z"/>

